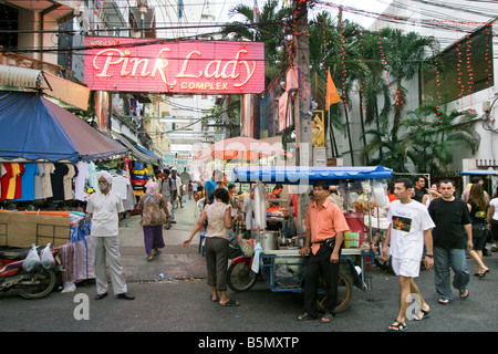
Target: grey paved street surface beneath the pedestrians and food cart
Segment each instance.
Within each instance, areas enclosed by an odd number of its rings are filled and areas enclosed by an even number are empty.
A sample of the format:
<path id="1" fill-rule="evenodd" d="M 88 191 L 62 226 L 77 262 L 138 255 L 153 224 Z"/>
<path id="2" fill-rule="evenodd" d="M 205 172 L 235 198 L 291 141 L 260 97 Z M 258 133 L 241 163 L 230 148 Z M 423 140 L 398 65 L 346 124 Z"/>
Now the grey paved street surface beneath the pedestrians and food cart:
<path id="1" fill-rule="evenodd" d="M 195 343 L 187 343 L 197 345 L 196 341 L 209 332 L 242 332 L 247 335 L 384 332 L 395 319 L 397 279 L 378 268 L 371 271 L 372 290 L 354 289 L 351 308 L 326 325 L 318 321 L 297 322 L 295 316 L 302 312 L 301 295 L 271 292 L 261 280 L 249 292 L 229 291 L 240 306 L 219 306 L 208 299 L 205 263 L 197 252 L 197 243 L 193 242 L 188 249 L 180 246 L 194 222 L 190 211 L 191 208 L 185 208 L 178 212 L 179 222 L 166 232 L 163 254 L 152 263 L 145 261 L 138 217 L 123 222 L 123 264 L 135 301 L 117 300 L 113 295 L 95 301 L 92 282 L 79 284 L 74 293 L 56 291 L 48 298 L 31 301 L 14 292 L 0 293 L 2 331 L 197 332 Z M 433 316 L 422 322 L 408 322 L 408 332 L 497 332 L 498 253 L 485 261 L 490 273 L 484 279 L 473 277 L 467 300 L 458 299 L 455 290 L 455 300 L 447 306 L 437 304 L 433 271 L 423 271 L 417 284 L 432 306 Z M 475 269 L 471 260 L 469 268 Z M 159 273 L 166 279 L 157 280 Z M 82 310 L 85 304 L 87 311 Z M 89 319 L 76 320 L 75 314 L 87 314 Z"/>

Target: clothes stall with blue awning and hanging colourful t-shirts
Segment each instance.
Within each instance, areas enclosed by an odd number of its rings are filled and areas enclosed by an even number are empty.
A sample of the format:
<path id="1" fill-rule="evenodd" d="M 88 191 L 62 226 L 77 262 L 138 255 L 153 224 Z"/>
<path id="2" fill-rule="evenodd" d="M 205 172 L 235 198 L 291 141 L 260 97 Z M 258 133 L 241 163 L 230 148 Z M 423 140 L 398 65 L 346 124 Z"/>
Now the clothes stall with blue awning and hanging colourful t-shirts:
<path id="1" fill-rule="evenodd" d="M 93 278 L 83 214 L 35 210 L 33 204 L 84 205 L 86 187 L 97 188 L 98 166 L 117 164 L 128 148 L 38 93 L 1 92 L 0 124 L 1 207 L 14 209 L 0 212 L 0 246 L 50 242 L 61 248 L 64 282 Z M 18 211 L 19 206 L 33 211 Z"/>

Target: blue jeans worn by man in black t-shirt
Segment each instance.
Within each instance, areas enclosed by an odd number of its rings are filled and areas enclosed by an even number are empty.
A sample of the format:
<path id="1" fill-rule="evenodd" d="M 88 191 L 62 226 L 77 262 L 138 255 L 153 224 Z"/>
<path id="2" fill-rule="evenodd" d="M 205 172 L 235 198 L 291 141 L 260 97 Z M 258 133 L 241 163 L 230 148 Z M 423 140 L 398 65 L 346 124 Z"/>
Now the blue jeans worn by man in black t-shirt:
<path id="1" fill-rule="evenodd" d="M 458 290 L 466 290 L 470 280 L 467 268 L 465 250 L 434 248 L 434 282 L 440 299 L 452 300 L 450 272 L 453 269 L 455 277 L 453 287 Z"/>

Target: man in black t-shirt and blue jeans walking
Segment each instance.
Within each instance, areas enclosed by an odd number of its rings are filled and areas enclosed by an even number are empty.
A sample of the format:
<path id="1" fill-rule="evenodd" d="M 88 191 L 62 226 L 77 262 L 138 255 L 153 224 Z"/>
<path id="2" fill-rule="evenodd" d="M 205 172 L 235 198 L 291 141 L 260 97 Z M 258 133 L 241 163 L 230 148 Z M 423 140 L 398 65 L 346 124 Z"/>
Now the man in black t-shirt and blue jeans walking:
<path id="1" fill-rule="evenodd" d="M 433 200 L 428 212 L 436 227 L 433 229 L 434 282 L 438 303 L 453 300 L 450 269 L 455 272 L 453 287 L 460 299 L 469 295 L 469 271 L 465 250 L 473 249 L 473 228 L 467 204 L 455 197 L 455 185 L 445 179 L 439 185 L 440 198 Z"/>

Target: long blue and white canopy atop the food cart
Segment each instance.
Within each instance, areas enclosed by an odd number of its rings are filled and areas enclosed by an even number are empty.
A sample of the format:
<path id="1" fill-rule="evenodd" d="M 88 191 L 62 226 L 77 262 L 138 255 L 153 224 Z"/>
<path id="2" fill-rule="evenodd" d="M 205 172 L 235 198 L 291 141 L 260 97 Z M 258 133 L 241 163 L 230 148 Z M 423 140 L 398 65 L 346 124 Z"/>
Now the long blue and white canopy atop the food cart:
<path id="1" fill-rule="evenodd" d="M 317 180 L 391 178 L 393 170 L 383 166 L 310 167 L 310 166 L 242 166 L 235 167 L 232 181 L 282 185 L 311 185 Z"/>

